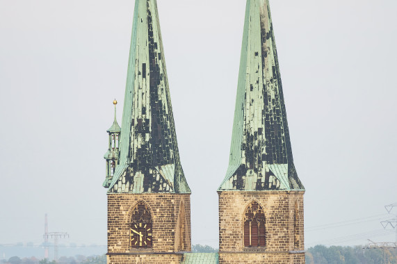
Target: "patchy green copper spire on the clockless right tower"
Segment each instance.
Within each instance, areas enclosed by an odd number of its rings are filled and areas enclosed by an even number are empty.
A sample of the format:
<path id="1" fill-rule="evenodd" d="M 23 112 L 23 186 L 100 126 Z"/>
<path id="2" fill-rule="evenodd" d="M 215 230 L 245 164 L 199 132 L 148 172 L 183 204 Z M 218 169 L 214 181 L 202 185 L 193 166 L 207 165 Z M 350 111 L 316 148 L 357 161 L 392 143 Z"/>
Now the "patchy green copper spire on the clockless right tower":
<path id="1" fill-rule="evenodd" d="M 268 0 L 248 0 L 229 167 L 218 190 L 304 190 L 293 165 Z"/>

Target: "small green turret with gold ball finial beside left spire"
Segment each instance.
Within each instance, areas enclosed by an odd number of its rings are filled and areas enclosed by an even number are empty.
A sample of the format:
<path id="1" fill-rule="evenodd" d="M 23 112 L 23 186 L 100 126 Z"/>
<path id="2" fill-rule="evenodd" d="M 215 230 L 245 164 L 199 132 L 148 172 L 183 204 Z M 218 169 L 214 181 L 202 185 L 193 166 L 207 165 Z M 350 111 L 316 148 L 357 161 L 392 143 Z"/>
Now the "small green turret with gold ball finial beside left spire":
<path id="1" fill-rule="evenodd" d="M 115 119 L 110 129 L 106 132 L 109 134 L 109 142 L 108 142 L 108 151 L 104 155 L 106 159 L 106 179 L 104 181 L 104 187 L 108 188 L 111 180 L 113 179 L 113 174 L 115 173 L 116 166 L 118 165 L 118 157 L 119 157 L 119 142 L 120 142 L 120 133 L 121 128 L 116 119 L 116 104 L 118 101 L 116 99 L 113 101 L 115 105 Z"/>

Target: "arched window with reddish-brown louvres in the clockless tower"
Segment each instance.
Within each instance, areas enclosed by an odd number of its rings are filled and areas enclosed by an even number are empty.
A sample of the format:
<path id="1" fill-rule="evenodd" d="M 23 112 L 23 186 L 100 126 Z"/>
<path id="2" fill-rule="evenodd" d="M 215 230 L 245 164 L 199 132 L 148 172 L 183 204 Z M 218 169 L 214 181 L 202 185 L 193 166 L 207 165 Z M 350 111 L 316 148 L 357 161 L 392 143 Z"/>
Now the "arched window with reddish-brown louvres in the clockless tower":
<path id="1" fill-rule="evenodd" d="M 244 246 L 265 247 L 266 246 L 266 220 L 265 213 L 256 202 L 245 209 L 244 213 Z"/>

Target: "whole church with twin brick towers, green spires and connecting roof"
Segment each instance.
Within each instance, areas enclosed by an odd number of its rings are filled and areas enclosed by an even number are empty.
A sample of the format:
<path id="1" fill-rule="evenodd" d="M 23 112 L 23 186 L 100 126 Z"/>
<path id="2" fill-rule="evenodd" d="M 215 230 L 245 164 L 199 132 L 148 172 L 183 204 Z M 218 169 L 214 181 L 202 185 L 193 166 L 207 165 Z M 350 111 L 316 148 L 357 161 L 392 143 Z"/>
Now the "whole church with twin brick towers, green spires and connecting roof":
<path id="1" fill-rule="evenodd" d="M 115 119 L 104 156 L 108 263 L 305 263 L 305 188 L 293 165 L 268 0 L 247 1 L 217 254 L 188 253 L 191 190 L 168 89 L 156 0 L 136 0 L 122 128 Z"/>

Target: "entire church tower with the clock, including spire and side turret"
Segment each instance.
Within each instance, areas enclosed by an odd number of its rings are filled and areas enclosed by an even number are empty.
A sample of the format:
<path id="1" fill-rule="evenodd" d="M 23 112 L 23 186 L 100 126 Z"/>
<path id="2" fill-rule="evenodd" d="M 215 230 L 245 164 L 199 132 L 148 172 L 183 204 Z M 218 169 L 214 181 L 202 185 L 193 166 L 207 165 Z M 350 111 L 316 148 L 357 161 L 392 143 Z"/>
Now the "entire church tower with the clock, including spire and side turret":
<path id="1" fill-rule="evenodd" d="M 191 190 L 179 160 L 156 0 L 135 1 L 121 133 L 108 133 L 120 135 L 118 149 L 110 142 L 105 156 L 108 263 L 180 263 L 191 250 Z"/>

